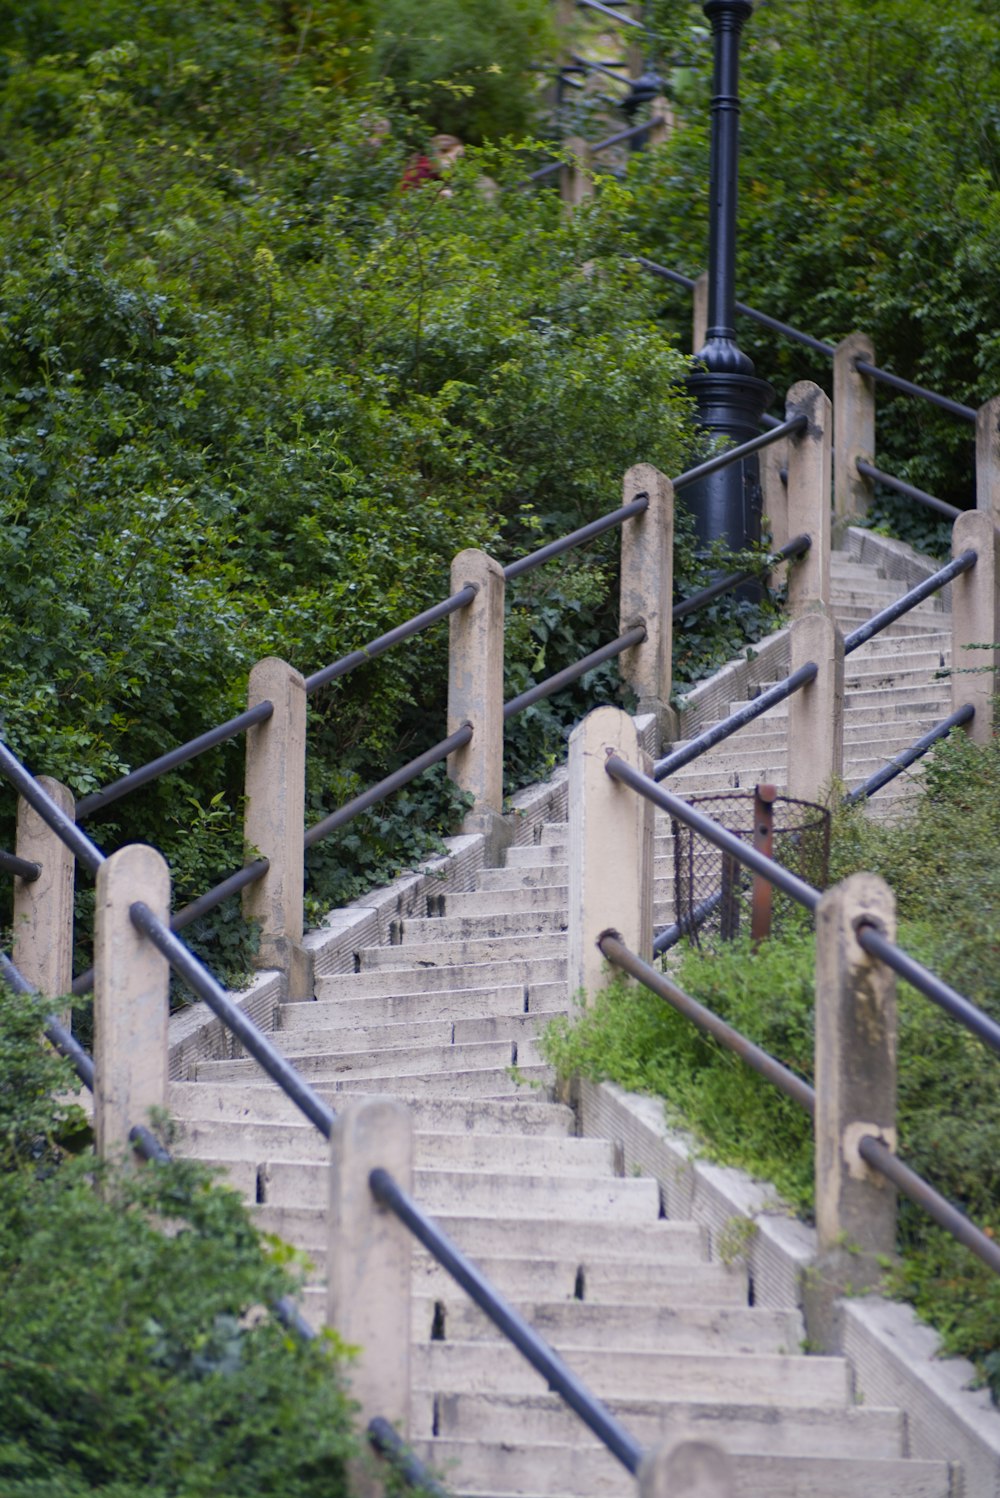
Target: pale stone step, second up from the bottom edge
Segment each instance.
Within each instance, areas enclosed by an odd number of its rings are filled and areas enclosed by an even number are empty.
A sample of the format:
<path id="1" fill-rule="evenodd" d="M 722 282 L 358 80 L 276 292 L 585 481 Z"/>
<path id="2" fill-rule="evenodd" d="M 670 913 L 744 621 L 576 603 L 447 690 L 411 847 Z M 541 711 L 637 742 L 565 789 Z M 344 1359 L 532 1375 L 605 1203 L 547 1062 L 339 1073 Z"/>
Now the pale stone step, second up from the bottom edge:
<path id="1" fill-rule="evenodd" d="M 787 1408 L 781 1404 L 717 1405 L 687 1399 L 612 1399 L 611 1413 L 645 1446 L 660 1441 L 719 1440 L 734 1453 L 760 1456 L 900 1456 L 903 1416 L 898 1410 L 849 1405 L 844 1410 Z M 516 1431 L 527 1443 L 585 1437 L 579 1419 L 558 1395 L 472 1395 L 416 1390 L 415 1434 L 431 1431 L 448 1440 L 490 1440 Z"/>

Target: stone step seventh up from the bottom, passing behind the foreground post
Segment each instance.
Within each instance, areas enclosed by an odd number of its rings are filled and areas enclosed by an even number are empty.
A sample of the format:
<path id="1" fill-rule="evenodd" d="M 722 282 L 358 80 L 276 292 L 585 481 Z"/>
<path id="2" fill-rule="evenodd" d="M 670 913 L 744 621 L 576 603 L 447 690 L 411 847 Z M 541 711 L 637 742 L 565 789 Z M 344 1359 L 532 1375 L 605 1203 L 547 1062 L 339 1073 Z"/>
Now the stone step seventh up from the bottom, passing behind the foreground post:
<path id="1" fill-rule="evenodd" d="M 229 1183 L 249 1201 L 299 1206 L 323 1201 L 329 1189 L 329 1167 L 304 1159 L 226 1159 L 202 1156 L 225 1170 Z M 487 1213 L 496 1219 L 585 1216 L 591 1231 L 608 1219 L 656 1221 L 659 1188 L 648 1179 L 618 1176 L 512 1174 L 476 1170 L 413 1171 L 413 1195 L 425 1212 Z M 503 1245 L 503 1222 L 497 1221 L 497 1246 Z"/>

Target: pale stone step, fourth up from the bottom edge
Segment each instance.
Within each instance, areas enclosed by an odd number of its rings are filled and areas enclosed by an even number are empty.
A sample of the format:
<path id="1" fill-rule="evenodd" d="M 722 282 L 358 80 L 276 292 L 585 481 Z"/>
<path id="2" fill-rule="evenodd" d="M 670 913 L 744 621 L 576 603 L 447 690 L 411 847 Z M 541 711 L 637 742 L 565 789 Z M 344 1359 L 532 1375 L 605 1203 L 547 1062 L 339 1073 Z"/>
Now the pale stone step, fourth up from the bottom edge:
<path id="1" fill-rule="evenodd" d="M 497 1338 L 493 1321 L 458 1287 L 451 1294 L 421 1297 L 425 1341 L 478 1342 Z M 798 1311 L 753 1306 L 603 1305 L 587 1300 L 528 1300 L 516 1305 L 528 1326 L 560 1351 L 603 1347 L 635 1353 L 731 1353 L 732 1356 L 798 1353 Z"/>

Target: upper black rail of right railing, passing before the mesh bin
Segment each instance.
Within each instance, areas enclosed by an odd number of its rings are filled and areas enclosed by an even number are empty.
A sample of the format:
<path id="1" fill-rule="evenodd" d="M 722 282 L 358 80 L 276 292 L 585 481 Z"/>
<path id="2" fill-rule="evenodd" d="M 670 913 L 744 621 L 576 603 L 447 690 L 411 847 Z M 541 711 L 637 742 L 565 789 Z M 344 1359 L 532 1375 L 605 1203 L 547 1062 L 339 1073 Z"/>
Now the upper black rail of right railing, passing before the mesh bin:
<path id="1" fill-rule="evenodd" d="M 781 890 L 784 894 L 790 896 L 798 905 L 804 905 L 807 911 L 816 914 L 816 906 L 820 902 L 820 891 L 807 884 L 805 879 L 799 879 L 798 875 L 784 869 L 774 858 L 768 858 L 766 854 L 759 852 L 749 843 L 743 842 L 735 833 L 728 831 L 714 822 L 711 816 L 705 816 L 704 812 L 696 810 L 687 801 L 681 800 L 680 795 L 674 795 L 671 791 L 665 791 L 662 785 L 657 785 L 648 776 L 642 774 L 633 765 L 626 764 L 617 755 L 611 755 L 605 764 L 605 770 L 615 780 L 621 780 L 623 785 L 632 786 L 639 795 L 645 797 L 660 810 L 668 812 L 675 816 L 678 822 L 684 822 L 699 836 L 705 837 L 708 842 L 722 848 L 723 852 L 731 854 L 738 863 L 743 863 L 753 873 L 762 875 L 769 884 Z M 945 1010 L 952 1019 L 957 1019 L 966 1029 L 972 1031 L 979 1040 L 982 1040 L 991 1050 L 1000 1055 L 1000 1025 L 991 1019 L 984 1010 L 978 1008 L 970 999 L 964 998 L 948 983 L 933 974 L 916 959 L 907 956 L 900 947 L 891 942 L 886 936 L 877 932 L 870 924 L 861 924 L 858 929 L 858 944 L 873 957 L 879 957 L 886 966 L 892 968 L 901 978 L 906 978 L 912 987 L 924 993 L 925 998 L 931 999 L 939 1008 Z"/>

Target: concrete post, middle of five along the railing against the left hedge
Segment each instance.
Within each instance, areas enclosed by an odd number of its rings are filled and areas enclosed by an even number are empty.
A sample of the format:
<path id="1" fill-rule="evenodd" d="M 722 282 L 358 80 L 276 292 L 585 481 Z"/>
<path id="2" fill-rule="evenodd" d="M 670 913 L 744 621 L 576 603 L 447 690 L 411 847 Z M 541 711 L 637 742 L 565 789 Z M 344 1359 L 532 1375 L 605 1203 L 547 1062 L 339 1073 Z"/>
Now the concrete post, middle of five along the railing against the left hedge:
<path id="1" fill-rule="evenodd" d="M 484 833 L 487 861 L 499 863 L 503 825 L 503 568 L 485 551 L 460 551 L 452 562 L 452 592 L 469 583 L 476 596 L 451 616 L 448 635 L 448 733 L 472 724 L 464 749 L 448 756 L 448 774 L 473 797 L 463 822 Z"/>

